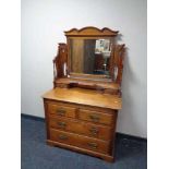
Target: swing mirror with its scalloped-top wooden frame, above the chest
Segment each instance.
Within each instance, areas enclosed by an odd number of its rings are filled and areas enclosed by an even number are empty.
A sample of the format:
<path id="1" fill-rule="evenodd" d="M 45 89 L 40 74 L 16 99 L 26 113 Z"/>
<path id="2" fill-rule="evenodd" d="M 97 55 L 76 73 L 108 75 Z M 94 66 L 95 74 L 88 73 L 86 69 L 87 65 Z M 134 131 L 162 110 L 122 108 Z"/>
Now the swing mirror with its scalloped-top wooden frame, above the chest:
<path id="1" fill-rule="evenodd" d="M 93 26 L 64 32 L 70 77 L 112 80 L 112 58 L 118 31 Z"/>

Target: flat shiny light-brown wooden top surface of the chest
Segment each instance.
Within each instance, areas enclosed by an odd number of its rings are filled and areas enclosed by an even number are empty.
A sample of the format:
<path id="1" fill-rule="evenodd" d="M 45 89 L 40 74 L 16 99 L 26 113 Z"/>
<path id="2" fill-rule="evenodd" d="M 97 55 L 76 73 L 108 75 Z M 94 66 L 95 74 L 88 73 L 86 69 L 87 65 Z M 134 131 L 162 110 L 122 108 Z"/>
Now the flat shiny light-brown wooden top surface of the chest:
<path id="1" fill-rule="evenodd" d="M 73 102 L 86 106 L 95 106 L 109 109 L 121 109 L 121 97 L 110 94 L 100 94 L 97 90 L 84 88 L 55 88 L 43 95 L 45 99 L 56 101 Z"/>

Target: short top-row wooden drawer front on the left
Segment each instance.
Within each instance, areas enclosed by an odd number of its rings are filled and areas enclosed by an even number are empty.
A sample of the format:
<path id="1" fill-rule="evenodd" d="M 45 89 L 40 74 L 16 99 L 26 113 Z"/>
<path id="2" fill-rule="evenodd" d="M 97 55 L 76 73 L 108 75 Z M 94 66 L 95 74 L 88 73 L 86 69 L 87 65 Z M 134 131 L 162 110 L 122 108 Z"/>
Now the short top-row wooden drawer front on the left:
<path id="1" fill-rule="evenodd" d="M 76 111 L 76 109 L 73 107 L 67 107 L 67 106 L 55 105 L 55 104 L 49 104 L 48 110 L 49 110 L 49 116 L 69 117 L 69 118 L 75 118 L 75 111 Z"/>

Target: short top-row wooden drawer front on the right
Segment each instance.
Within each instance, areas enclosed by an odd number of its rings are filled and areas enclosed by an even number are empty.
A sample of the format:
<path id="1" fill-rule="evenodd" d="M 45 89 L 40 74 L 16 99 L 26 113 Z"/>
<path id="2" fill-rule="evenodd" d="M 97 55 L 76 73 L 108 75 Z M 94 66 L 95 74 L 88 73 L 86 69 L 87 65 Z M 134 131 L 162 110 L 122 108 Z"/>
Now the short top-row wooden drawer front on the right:
<path id="1" fill-rule="evenodd" d="M 79 119 L 109 125 L 116 121 L 116 116 L 113 112 L 110 114 L 80 109 Z"/>

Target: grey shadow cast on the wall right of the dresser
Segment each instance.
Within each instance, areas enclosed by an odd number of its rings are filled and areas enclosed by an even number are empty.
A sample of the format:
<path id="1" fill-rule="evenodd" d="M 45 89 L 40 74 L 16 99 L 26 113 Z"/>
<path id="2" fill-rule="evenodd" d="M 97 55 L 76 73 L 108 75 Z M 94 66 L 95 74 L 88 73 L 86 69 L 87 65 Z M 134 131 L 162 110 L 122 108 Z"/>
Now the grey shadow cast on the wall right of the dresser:
<path id="1" fill-rule="evenodd" d="M 121 40 L 121 39 L 122 39 L 122 35 L 120 35 L 117 38 L 117 40 Z M 134 95 L 134 90 L 132 90 L 132 86 L 133 84 L 141 85 L 142 83 L 140 82 L 140 80 L 131 69 L 129 51 L 130 49 L 128 48 L 128 45 L 126 45 L 124 63 L 123 63 L 124 68 L 123 68 L 123 80 L 122 80 L 122 110 L 119 111 L 117 128 L 119 132 L 122 132 L 125 134 L 135 133 L 135 136 L 141 136 L 140 133 L 143 133 L 142 131 L 143 126 L 141 126 L 141 124 L 137 123 L 137 120 L 135 120 L 135 117 L 137 117 L 136 114 L 137 107 L 134 100 L 134 97 L 136 96 Z"/>

